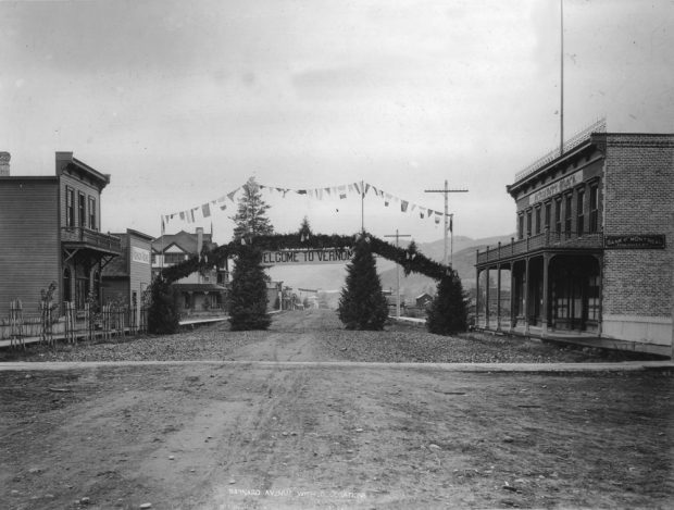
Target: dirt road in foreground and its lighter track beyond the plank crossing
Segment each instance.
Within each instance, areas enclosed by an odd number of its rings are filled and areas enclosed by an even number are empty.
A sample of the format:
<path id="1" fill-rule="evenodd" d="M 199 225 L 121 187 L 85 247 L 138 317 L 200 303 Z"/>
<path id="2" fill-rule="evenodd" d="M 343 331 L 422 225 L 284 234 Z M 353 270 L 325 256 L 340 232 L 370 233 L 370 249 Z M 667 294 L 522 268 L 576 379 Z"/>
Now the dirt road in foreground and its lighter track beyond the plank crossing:
<path id="1" fill-rule="evenodd" d="M 228 359 L 332 359 L 312 321 L 276 321 Z M 0 387 L 3 508 L 666 508 L 674 497 L 674 387 L 660 372 L 172 364 L 0 372 Z"/>

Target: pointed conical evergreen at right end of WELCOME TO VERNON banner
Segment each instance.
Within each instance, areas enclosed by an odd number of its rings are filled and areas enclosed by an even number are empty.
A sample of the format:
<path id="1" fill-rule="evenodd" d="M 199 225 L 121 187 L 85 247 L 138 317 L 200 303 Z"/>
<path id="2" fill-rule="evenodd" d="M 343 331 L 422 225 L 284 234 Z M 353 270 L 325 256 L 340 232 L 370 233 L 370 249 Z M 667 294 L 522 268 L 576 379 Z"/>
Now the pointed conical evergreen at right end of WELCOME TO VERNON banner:
<path id="1" fill-rule="evenodd" d="M 347 265 L 346 287 L 339 298 L 339 320 L 347 329 L 384 328 L 388 304 L 382 293 L 374 257 L 366 239 L 357 241 L 353 259 Z"/>

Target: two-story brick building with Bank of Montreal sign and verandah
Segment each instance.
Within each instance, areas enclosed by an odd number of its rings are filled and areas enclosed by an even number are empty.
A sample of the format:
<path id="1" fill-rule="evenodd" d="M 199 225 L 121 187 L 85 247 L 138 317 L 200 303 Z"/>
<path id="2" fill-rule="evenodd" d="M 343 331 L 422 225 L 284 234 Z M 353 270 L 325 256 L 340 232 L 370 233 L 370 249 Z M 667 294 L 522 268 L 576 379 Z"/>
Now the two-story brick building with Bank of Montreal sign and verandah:
<path id="1" fill-rule="evenodd" d="M 477 326 L 671 356 L 674 135 L 597 124 L 507 189 L 516 239 L 478 252 L 476 272 L 497 295 L 510 278 L 510 311 L 486 286 Z"/>

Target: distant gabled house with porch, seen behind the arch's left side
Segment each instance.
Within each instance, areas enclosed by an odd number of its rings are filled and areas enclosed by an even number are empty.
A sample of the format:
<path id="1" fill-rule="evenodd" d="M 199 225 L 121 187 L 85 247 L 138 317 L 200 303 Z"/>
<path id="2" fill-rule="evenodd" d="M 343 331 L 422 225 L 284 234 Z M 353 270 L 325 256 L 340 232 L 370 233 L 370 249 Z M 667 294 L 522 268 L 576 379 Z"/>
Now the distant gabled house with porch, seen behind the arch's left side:
<path id="1" fill-rule="evenodd" d="M 212 234 L 204 234 L 198 227 L 195 234 L 180 231 L 166 234 L 152 241 L 152 277 L 163 268 L 179 264 L 192 257 L 199 257 L 203 249 L 212 250 Z M 179 294 L 179 311 L 184 314 L 212 312 L 221 310 L 225 303 L 228 284 L 227 265 L 214 268 L 204 273 L 195 272 L 174 282 L 172 286 Z"/>

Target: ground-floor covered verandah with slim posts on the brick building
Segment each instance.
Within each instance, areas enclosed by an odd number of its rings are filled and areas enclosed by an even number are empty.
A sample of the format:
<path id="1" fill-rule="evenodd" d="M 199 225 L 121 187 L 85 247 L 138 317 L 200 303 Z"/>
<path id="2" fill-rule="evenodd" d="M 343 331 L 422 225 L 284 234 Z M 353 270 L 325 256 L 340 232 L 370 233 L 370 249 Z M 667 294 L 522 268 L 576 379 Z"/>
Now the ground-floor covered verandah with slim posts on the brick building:
<path id="1" fill-rule="evenodd" d="M 570 341 L 601 337 L 601 250 L 495 251 L 478 253 L 475 266 L 477 328 Z"/>

